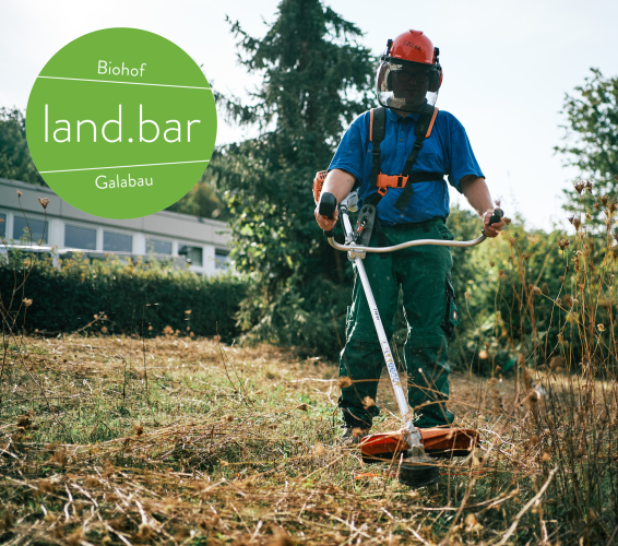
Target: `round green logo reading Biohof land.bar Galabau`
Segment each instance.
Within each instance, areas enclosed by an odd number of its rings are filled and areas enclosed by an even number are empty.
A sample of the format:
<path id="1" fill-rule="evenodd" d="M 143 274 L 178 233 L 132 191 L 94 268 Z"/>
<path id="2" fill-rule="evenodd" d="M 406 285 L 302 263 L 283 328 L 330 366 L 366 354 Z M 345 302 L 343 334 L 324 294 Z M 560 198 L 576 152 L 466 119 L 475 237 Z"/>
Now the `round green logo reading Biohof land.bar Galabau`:
<path id="1" fill-rule="evenodd" d="M 159 212 L 206 168 L 216 139 L 212 91 L 178 46 L 135 28 L 86 34 L 33 86 L 27 142 L 45 181 L 107 218 Z"/>

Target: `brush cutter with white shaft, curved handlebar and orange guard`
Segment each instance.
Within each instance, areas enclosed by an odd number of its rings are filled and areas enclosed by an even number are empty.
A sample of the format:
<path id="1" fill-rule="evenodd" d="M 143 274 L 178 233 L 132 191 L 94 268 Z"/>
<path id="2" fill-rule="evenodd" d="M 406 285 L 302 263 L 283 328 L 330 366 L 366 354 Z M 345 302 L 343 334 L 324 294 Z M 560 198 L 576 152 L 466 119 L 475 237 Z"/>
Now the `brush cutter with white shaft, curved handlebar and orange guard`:
<path id="1" fill-rule="evenodd" d="M 320 195 L 319 214 L 332 217 L 337 205 L 336 198 L 329 192 Z M 426 428 L 418 429 L 413 424 L 414 413 L 407 405 L 407 396 L 401 384 L 400 376 L 389 346 L 389 340 L 384 327 L 380 320 L 378 306 L 371 292 L 369 278 L 365 271 L 363 259 L 367 252 L 394 252 L 404 248 L 418 247 L 421 245 L 438 245 L 442 247 L 474 247 L 483 242 L 487 237 L 480 237 L 471 241 L 450 241 L 437 239 L 419 239 L 392 247 L 366 247 L 356 244 L 356 237 L 352 228 L 348 212 L 358 210 L 358 194 L 353 191 L 340 203 L 340 219 L 345 233 L 345 242 L 340 245 L 334 239 L 334 228 L 324 232 L 329 244 L 336 250 L 347 252 L 350 261 L 356 264 L 358 276 L 363 283 L 365 296 L 371 310 L 373 324 L 378 333 L 378 340 L 382 348 L 382 355 L 387 363 L 387 369 L 393 384 L 395 399 L 402 415 L 404 427 L 392 432 L 376 434 L 365 437 L 360 441 L 360 451 L 365 462 L 394 461 L 399 462 L 399 479 L 402 484 L 411 487 L 423 487 L 435 484 L 440 479 L 439 466 L 429 455 L 462 456 L 468 455 L 472 448 L 478 443 L 479 435 L 475 430 L 460 428 Z M 496 209 L 490 224 L 500 222 L 503 212 Z"/>

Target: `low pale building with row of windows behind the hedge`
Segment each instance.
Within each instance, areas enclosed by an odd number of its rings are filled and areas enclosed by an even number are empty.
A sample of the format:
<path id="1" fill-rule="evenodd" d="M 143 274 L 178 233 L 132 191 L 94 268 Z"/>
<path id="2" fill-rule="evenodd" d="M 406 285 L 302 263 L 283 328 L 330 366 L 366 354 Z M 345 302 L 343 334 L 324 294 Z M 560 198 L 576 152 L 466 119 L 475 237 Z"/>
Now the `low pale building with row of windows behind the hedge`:
<path id="1" fill-rule="evenodd" d="M 47 225 L 38 198 L 49 199 Z M 75 209 L 49 188 L 4 178 L 0 221 L 0 237 L 9 244 L 24 241 L 29 227 L 33 245 L 41 240 L 40 246 L 56 248 L 61 256 L 79 249 L 91 259 L 153 257 L 178 265 L 190 262 L 191 270 L 204 275 L 221 273 L 228 262 L 230 232 L 225 222 L 168 211 L 142 218 L 102 218 Z"/>

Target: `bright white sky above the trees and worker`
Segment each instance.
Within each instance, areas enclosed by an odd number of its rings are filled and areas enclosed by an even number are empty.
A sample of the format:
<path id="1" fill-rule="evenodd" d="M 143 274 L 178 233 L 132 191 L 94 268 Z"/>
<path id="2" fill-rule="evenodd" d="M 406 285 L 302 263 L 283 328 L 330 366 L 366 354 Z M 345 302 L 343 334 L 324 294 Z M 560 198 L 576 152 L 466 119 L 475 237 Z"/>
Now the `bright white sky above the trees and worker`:
<path id="1" fill-rule="evenodd" d="M 25 109 L 37 74 L 60 48 L 115 26 L 170 39 L 203 64 L 214 88 L 243 97 L 258 80 L 238 64 L 226 16 L 261 37 L 278 3 L 0 0 L 0 107 Z M 578 171 L 554 151 L 566 134 L 560 110 L 566 93 L 583 84 L 591 67 L 618 75 L 618 2 L 333 0 L 328 5 L 360 27 L 361 44 L 375 55 L 388 38 L 423 31 L 440 48 L 444 80 L 437 106 L 466 128 L 492 197 L 507 215 L 521 215 L 530 227 L 563 225 L 562 190 L 572 187 Z M 219 116 L 217 144 L 252 134 Z M 451 197 L 468 206 L 455 191 Z"/>

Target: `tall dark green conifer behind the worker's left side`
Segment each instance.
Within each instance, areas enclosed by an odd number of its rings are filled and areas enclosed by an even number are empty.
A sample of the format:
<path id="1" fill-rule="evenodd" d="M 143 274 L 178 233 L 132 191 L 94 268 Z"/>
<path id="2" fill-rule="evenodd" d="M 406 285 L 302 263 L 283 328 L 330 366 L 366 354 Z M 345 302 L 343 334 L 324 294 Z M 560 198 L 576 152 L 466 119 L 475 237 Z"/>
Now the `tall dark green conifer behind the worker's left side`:
<path id="1" fill-rule="evenodd" d="M 258 340 L 333 355 L 350 269 L 316 224 L 311 181 L 346 124 L 372 105 L 373 58 L 360 29 L 319 0 L 283 0 L 263 38 L 238 22 L 231 31 L 261 83 L 249 104 L 223 102 L 260 135 L 224 146 L 206 173 L 226 192 L 236 269 L 254 281 L 240 319 Z"/>

